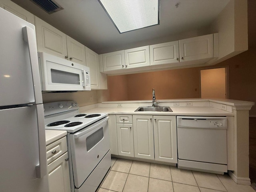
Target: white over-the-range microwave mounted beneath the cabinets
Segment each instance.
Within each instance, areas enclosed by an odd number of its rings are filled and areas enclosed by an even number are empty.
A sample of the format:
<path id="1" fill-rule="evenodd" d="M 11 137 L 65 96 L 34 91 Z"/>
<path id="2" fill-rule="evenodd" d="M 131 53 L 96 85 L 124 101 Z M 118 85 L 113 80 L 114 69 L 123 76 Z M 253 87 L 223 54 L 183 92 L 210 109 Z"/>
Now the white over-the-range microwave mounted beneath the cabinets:
<path id="1" fill-rule="evenodd" d="M 38 52 L 43 92 L 91 90 L 90 68 L 44 52 Z"/>

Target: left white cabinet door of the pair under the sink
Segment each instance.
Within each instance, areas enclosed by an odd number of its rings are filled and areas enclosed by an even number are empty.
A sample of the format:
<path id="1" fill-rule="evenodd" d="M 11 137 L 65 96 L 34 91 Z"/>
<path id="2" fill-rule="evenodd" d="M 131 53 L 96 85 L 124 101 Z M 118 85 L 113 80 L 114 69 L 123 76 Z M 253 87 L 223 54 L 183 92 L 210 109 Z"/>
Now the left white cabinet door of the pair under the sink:
<path id="1" fill-rule="evenodd" d="M 134 157 L 154 159 L 153 116 L 133 116 Z"/>

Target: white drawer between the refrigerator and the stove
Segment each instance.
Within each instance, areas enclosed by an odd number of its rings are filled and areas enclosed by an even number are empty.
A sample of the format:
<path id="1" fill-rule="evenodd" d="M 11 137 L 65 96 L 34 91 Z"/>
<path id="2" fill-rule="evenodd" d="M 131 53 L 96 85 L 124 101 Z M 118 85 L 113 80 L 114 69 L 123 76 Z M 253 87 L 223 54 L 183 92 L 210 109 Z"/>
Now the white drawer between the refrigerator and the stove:
<path id="1" fill-rule="evenodd" d="M 67 139 L 63 137 L 52 144 L 46 146 L 47 164 L 64 154 L 68 150 Z"/>

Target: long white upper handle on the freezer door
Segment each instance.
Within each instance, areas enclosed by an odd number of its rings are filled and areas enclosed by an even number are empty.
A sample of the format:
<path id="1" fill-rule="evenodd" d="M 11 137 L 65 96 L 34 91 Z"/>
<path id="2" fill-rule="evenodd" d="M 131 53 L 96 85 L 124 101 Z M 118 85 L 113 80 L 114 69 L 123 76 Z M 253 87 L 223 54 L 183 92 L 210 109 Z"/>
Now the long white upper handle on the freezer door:
<path id="1" fill-rule="evenodd" d="M 32 71 L 32 79 L 34 85 L 34 96 L 35 96 L 35 104 L 43 103 L 42 100 L 42 89 L 39 75 L 39 65 L 37 58 L 37 47 L 36 47 L 36 34 L 34 29 L 25 26 L 22 28 L 23 39 L 25 42 L 28 42 L 28 50 L 30 56 L 30 64 Z M 43 115 L 44 116 L 44 115 Z"/>

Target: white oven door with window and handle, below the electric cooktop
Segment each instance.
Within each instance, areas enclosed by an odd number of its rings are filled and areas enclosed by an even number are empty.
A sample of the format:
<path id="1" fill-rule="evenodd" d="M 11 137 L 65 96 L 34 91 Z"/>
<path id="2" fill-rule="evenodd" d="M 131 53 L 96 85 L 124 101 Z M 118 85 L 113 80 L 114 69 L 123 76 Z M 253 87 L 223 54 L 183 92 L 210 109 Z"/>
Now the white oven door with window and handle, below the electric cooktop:
<path id="1" fill-rule="evenodd" d="M 74 184 L 79 188 L 110 150 L 108 118 L 70 134 Z"/>

